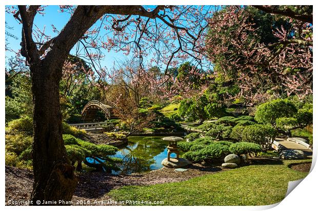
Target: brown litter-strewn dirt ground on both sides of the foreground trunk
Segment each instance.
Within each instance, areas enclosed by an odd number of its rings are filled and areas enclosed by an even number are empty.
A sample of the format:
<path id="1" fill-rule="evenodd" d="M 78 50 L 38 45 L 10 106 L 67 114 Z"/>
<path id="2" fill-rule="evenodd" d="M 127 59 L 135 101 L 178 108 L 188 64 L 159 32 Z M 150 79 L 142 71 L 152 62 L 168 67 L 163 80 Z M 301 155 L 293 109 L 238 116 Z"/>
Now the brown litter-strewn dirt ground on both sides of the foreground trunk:
<path id="1" fill-rule="evenodd" d="M 222 169 L 218 166 L 193 164 L 184 172 L 176 172 L 174 169 L 163 167 L 148 173 L 132 175 L 111 175 L 105 172 L 81 173 L 77 174 L 79 182 L 72 201 L 73 205 L 81 205 L 78 204 L 78 201 L 110 200 L 107 193 L 111 189 L 120 188 L 125 185 L 178 182 L 224 170 L 228 169 Z M 12 201 L 26 201 L 30 199 L 32 183 L 33 172 L 31 170 L 6 166 L 6 205 L 12 205 Z"/>

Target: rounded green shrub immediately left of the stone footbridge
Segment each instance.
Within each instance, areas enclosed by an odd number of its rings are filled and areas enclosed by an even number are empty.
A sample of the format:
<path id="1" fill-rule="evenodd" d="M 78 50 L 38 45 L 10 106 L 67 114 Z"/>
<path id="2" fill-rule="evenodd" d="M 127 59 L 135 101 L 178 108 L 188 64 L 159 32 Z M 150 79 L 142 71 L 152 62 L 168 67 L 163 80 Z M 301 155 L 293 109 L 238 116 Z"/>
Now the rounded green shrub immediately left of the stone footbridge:
<path id="1" fill-rule="evenodd" d="M 271 148 L 276 136 L 277 131 L 270 125 L 248 125 L 242 132 L 242 141 L 260 144 L 265 151 Z"/>

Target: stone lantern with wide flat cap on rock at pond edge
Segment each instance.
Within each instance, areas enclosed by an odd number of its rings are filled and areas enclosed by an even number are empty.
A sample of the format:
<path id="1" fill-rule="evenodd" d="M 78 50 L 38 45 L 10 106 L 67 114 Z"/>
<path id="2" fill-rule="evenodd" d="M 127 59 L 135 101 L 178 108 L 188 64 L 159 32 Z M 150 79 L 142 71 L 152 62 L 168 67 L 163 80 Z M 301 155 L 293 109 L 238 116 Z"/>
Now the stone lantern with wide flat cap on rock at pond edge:
<path id="1" fill-rule="evenodd" d="M 190 164 L 188 160 L 179 157 L 179 148 L 177 147 L 177 142 L 182 141 L 183 138 L 176 137 L 176 136 L 169 136 L 169 137 L 163 138 L 163 140 L 169 141 L 169 145 L 167 147 L 168 156 L 161 162 L 163 166 L 166 166 L 168 168 L 180 168 Z M 175 153 L 176 155 L 175 158 L 170 157 L 172 153 Z"/>

